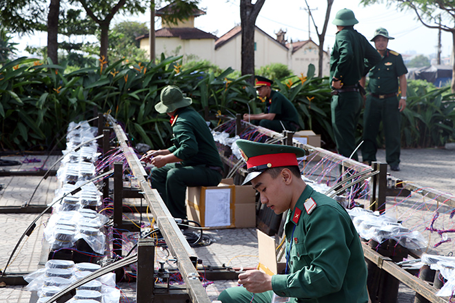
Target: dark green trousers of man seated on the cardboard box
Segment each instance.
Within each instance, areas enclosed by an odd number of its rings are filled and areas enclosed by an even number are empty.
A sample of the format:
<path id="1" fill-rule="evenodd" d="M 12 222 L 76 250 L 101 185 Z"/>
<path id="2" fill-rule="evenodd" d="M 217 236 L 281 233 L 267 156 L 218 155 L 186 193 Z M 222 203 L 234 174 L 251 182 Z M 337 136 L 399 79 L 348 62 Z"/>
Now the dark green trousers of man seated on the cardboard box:
<path id="1" fill-rule="evenodd" d="M 186 187 L 216 186 L 221 181 L 219 171 L 205 165 L 182 166 L 169 163 L 161 168 L 152 169 L 152 188 L 156 189 L 172 217 L 186 219 Z"/>

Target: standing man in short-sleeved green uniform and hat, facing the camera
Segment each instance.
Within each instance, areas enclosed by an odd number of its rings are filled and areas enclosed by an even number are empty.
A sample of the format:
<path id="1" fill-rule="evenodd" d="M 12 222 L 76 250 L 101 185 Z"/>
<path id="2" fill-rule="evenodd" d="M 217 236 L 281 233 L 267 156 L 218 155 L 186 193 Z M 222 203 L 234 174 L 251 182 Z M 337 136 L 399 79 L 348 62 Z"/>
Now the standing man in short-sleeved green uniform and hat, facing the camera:
<path id="1" fill-rule="evenodd" d="M 385 160 L 392 171 L 400 170 L 401 112 L 406 107 L 406 74 L 403 58 L 398 52 L 389 50 L 390 39 L 385 28 L 378 28 L 371 40 L 382 60 L 370 70 L 370 82 L 365 112 L 363 114 L 362 158 L 369 164 L 376 161 L 376 137 L 379 124 L 383 121 L 385 134 Z M 398 100 L 398 80 L 401 97 Z"/>

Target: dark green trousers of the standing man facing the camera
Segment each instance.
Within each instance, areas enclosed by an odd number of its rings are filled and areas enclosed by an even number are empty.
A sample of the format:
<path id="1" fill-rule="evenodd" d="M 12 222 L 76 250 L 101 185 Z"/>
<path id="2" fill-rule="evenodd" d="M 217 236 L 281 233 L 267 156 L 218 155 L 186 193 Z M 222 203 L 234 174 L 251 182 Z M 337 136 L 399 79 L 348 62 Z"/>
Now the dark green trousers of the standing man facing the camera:
<path id="1" fill-rule="evenodd" d="M 396 96 L 383 99 L 367 96 L 363 114 L 362 158 L 370 163 L 376 161 L 376 138 L 381 121 L 385 135 L 385 160 L 389 165 L 398 165 L 401 151 L 401 113 Z"/>

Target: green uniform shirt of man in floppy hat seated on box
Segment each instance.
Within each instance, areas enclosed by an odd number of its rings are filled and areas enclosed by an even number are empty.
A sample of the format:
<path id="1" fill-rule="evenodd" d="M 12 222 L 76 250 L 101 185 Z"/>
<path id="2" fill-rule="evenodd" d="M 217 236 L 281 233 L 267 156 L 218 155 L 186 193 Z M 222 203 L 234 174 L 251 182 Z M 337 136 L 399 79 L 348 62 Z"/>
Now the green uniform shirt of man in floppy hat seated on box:
<path id="1" fill-rule="evenodd" d="M 172 125 L 174 146 L 168 150 L 181 159 L 183 166 L 207 165 L 223 167 L 218 149 L 207 123 L 192 107 L 182 107 L 175 113 Z"/>

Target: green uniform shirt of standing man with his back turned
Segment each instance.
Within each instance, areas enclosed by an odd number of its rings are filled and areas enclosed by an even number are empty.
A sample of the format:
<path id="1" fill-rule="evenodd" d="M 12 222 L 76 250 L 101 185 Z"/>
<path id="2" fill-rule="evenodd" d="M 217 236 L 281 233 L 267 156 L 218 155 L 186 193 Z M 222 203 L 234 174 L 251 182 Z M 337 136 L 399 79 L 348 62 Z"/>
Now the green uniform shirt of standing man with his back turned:
<path id="1" fill-rule="evenodd" d="M 370 42 L 347 26 L 336 33 L 330 55 L 330 77 L 341 80 L 343 85 L 354 85 L 379 61 L 381 55 Z"/>

